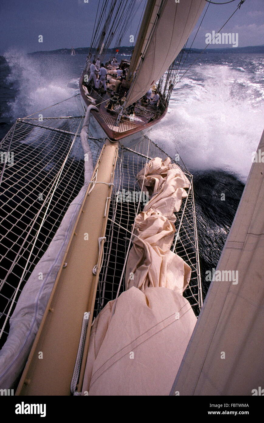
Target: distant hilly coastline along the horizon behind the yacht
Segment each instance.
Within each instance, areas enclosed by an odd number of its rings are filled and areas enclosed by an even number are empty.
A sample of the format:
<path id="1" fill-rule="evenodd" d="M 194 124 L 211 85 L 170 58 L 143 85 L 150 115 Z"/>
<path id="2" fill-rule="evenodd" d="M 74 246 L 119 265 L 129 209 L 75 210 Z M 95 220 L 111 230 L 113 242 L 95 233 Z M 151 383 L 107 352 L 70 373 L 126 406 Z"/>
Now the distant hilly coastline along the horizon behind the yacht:
<path id="1" fill-rule="evenodd" d="M 88 55 L 89 53 L 89 47 L 74 47 L 76 54 L 85 54 Z M 107 49 L 108 54 L 117 54 L 115 52 L 115 48 Z M 131 52 L 133 51 L 133 47 L 125 47 L 122 46 L 119 48 L 118 55 L 131 55 Z M 188 51 L 188 48 L 186 49 Z M 190 53 L 193 54 L 199 54 L 203 51 L 203 49 L 191 49 Z M 211 54 L 211 53 L 222 53 L 222 54 L 230 54 L 230 53 L 264 53 L 264 45 L 261 46 L 248 46 L 248 47 L 226 47 L 226 48 L 218 48 L 218 49 L 212 49 L 208 47 L 203 54 Z M 57 50 L 48 50 L 48 51 L 38 51 L 29 53 L 30 55 L 36 55 L 36 54 L 63 54 L 63 55 L 70 55 L 71 49 L 57 49 Z"/>

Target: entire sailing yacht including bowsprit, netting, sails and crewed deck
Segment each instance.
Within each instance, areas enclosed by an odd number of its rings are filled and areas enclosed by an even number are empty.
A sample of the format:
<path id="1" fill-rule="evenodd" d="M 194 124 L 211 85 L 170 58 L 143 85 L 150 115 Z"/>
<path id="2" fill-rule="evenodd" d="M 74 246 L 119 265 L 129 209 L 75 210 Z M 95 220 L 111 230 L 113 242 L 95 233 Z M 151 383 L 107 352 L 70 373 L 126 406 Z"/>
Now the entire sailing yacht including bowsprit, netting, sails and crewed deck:
<path id="1" fill-rule="evenodd" d="M 115 33 L 116 46 L 120 46 L 131 10 L 136 10 L 136 2 L 120 2 L 117 13 L 116 3 L 103 2 L 80 77 L 85 118 L 49 117 L 40 122 L 30 115 L 17 119 L 3 140 L 6 151 L 11 146 L 20 158 L 14 169 L 3 171 L 7 175 L 7 203 L 8 194 L 11 198 L 23 194 L 29 202 L 27 184 L 31 180 L 41 184 L 46 196 L 37 206 L 35 198 L 32 200 L 34 219 L 27 223 L 26 234 L 23 229 L 21 245 L 13 240 L 10 247 L 9 232 L 20 229 L 21 222 L 25 225 L 27 211 L 22 202 L 22 211 L 16 211 L 21 217 L 8 209 L 12 222 L 17 221 L 6 236 L 6 276 L 0 285 L 7 299 L 2 315 L 1 335 L 7 339 L 0 352 L 0 384 L 3 389 L 15 387 L 16 395 L 169 395 L 177 372 L 172 395 L 177 395 L 175 390 L 192 395 L 198 379 L 197 389 L 203 392 L 213 359 L 214 377 L 219 379 L 219 357 L 213 354 L 222 346 L 214 345 L 215 333 L 221 341 L 228 341 L 225 345 L 231 354 L 240 312 L 246 308 L 250 277 L 238 293 L 235 286 L 227 286 L 217 295 L 220 288 L 214 286 L 208 311 L 196 325 L 202 295 L 192 175 L 182 161 L 175 162 L 144 135 L 166 114 L 176 77 L 171 63 L 206 3 L 149 0 L 131 60 L 120 63 L 125 71 L 121 92 L 112 93 L 109 87 L 102 93 L 100 87 L 98 91 L 87 84 L 91 62 L 97 57 L 107 61 L 106 49 Z M 110 25 L 113 22 L 115 30 Z M 116 85 L 112 61 L 108 77 L 115 80 L 110 85 Z M 157 107 L 145 102 L 150 90 L 158 92 Z M 45 160 L 39 159 L 36 165 L 43 143 Z M 263 138 L 259 148 L 263 148 Z M 27 169 L 31 157 L 35 173 Z M 246 266 L 250 245 L 258 249 L 263 239 L 263 230 L 254 225 L 256 219 L 247 206 L 253 193 L 259 213 L 261 205 L 263 209 L 263 201 L 257 199 L 264 174 L 260 166 L 255 165 L 250 174 L 251 182 L 242 198 L 244 206 L 238 211 L 239 219 L 231 229 L 234 236 L 229 237 L 221 264 L 228 259 L 227 250 L 232 249 L 236 254 L 232 260 L 240 259 L 241 250 Z M 23 178 L 15 184 L 21 172 Z M 129 197 L 136 190 L 140 193 L 137 203 Z M 143 192 L 148 201 L 141 201 Z M 54 232 L 46 242 L 48 230 Z M 13 254 L 11 265 L 9 250 Z M 253 336 L 260 333 L 256 321 L 261 289 L 258 283 L 250 298 L 250 307 L 254 303 L 255 310 L 250 325 Z M 232 297 L 227 301 L 229 291 Z M 231 310 L 235 310 L 233 314 Z M 232 320 L 226 324 L 226 311 L 236 324 Z M 246 330 L 243 333 L 250 335 Z M 252 354 L 249 347 L 246 353 Z M 251 382 L 258 384 L 261 361 L 256 352 L 252 355 L 257 366 Z M 204 379 L 205 358 L 209 370 Z M 192 383 L 194 360 L 198 365 Z M 220 395 L 227 392 L 234 365 L 233 357 L 224 372 Z M 237 383 L 241 385 L 242 372 L 239 365 L 237 368 Z M 187 377 L 190 382 L 186 387 Z M 208 386 L 207 393 L 212 389 Z"/>

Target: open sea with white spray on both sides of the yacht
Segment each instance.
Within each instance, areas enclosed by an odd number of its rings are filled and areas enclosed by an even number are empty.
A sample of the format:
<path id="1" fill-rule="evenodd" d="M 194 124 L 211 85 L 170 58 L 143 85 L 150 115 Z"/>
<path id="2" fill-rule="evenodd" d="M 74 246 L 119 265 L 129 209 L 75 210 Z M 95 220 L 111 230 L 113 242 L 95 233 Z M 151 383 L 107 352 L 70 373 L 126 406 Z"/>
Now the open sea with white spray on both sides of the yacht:
<path id="1" fill-rule="evenodd" d="M 14 50 L 0 57 L 0 137 L 16 118 L 78 93 L 85 59 Z M 150 138 L 171 157 L 178 152 L 194 175 L 204 282 L 205 271 L 218 263 L 263 130 L 264 55 L 191 54 L 182 73 L 194 60 Z M 56 110 L 67 116 L 76 109 L 73 100 Z M 204 293 L 207 288 L 204 283 Z"/>

